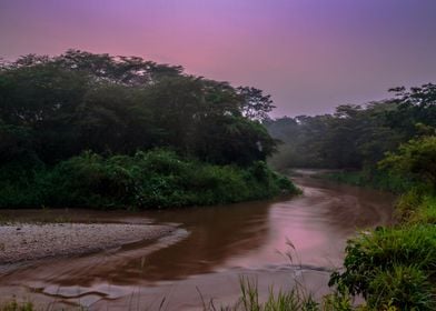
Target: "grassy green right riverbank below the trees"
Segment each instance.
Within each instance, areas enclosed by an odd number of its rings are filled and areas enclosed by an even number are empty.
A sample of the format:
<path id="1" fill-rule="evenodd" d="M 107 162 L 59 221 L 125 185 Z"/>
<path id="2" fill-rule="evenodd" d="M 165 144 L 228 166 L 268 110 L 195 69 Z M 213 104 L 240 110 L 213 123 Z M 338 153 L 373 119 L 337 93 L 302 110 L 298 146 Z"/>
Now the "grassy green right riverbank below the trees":
<path id="1" fill-rule="evenodd" d="M 341 171 L 320 178 L 399 193 L 394 225 L 347 242 L 344 271 L 330 282 L 363 294 L 370 310 L 435 310 L 436 195 L 434 184 L 393 172 Z M 413 255 L 412 255 L 413 254 Z"/>

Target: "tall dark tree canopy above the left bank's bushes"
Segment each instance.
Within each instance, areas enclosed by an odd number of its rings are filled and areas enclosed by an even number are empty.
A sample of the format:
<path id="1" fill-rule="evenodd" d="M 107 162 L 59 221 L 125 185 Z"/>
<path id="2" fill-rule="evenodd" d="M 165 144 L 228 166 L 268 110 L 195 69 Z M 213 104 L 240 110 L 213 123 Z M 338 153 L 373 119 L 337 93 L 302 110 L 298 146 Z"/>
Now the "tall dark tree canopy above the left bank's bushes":
<path id="1" fill-rule="evenodd" d="M 56 163 L 83 150 L 172 148 L 216 163 L 265 160 L 275 140 L 256 120 L 269 96 L 140 58 L 67 51 L 0 68 L 0 159 Z"/>

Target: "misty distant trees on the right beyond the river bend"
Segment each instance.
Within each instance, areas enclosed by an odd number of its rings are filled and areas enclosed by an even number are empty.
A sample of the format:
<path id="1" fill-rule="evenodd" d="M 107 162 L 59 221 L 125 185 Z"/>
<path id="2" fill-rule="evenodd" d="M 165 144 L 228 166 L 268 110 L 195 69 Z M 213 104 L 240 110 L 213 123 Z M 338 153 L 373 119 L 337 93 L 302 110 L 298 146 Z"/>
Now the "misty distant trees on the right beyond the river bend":
<path id="1" fill-rule="evenodd" d="M 436 128 L 436 86 L 392 89 L 392 99 L 344 104 L 333 114 L 280 118 L 265 122 L 281 140 L 277 168 L 371 169 L 387 151 Z"/>

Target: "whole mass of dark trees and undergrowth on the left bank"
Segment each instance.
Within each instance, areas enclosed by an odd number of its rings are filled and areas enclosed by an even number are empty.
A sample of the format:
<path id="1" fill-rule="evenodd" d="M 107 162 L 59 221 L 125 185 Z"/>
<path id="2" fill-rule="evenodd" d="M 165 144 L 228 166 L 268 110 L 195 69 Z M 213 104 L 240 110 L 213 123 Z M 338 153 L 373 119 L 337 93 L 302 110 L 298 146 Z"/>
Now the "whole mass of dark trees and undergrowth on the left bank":
<path id="1" fill-rule="evenodd" d="M 261 90 L 137 57 L 69 50 L 2 62 L 0 207 L 153 208 L 295 191 L 261 163 L 276 150 L 260 122 L 272 108 Z M 224 195 L 225 183 L 240 195 Z"/>

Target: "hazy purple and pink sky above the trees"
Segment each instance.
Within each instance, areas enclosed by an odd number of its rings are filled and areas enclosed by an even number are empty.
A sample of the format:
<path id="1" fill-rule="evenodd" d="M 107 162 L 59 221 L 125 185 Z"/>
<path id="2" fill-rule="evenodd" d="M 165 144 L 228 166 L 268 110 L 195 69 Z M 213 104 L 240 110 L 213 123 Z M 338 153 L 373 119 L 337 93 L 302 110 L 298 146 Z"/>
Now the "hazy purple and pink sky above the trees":
<path id="1" fill-rule="evenodd" d="M 0 57 L 139 56 L 333 112 L 436 82 L 436 0 L 0 0 Z"/>

